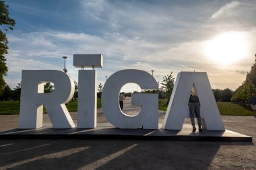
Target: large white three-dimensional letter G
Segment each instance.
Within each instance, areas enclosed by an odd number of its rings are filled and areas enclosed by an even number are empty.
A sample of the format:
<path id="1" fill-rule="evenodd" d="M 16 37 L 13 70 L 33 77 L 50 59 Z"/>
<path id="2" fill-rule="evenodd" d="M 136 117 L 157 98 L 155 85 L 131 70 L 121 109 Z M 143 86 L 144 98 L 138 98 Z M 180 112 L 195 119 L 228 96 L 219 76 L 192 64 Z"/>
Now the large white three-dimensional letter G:
<path id="1" fill-rule="evenodd" d="M 137 83 L 141 89 L 158 89 L 158 83 L 146 71 L 123 70 L 111 75 L 102 91 L 102 110 L 106 119 L 117 128 L 158 129 L 158 94 L 133 94 L 132 103 L 141 105 L 136 116 L 123 114 L 119 92 L 123 85 Z"/>

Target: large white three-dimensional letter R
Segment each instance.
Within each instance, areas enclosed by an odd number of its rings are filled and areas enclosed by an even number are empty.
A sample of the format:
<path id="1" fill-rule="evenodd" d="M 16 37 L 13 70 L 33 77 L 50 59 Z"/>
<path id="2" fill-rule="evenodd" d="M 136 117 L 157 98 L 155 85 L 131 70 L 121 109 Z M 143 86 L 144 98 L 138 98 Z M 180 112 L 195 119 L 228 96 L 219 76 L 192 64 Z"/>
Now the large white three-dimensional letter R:
<path id="1" fill-rule="evenodd" d="M 46 82 L 55 85 L 51 93 L 44 93 Z M 65 103 L 73 97 L 74 90 L 73 79 L 62 71 L 22 71 L 20 128 L 42 127 L 42 105 L 49 114 L 53 128 L 75 127 L 65 106 Z"/>

